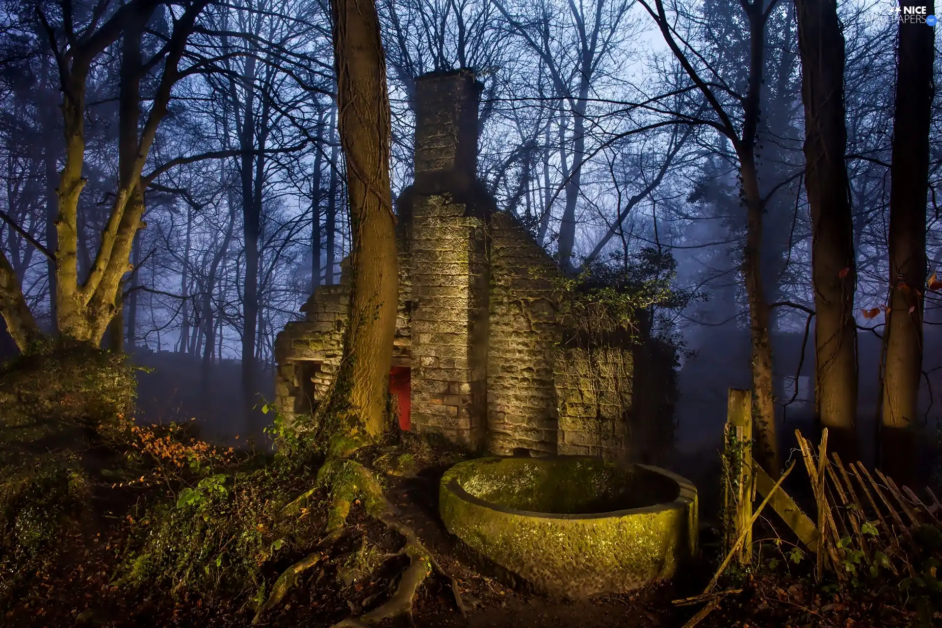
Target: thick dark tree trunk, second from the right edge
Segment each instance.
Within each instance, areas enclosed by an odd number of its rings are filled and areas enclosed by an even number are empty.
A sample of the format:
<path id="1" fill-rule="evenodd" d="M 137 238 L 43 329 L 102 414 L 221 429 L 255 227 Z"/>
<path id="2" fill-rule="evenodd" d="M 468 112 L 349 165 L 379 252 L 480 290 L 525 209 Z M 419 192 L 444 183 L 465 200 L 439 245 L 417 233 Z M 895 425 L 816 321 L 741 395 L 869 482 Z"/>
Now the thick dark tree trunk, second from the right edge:
<path id="1" fill-rule="evenodd" d="M 856 265 L 844 154 L 844 37 L 835 0 L 796 0 L 804 101 L 804 186 L 815 291 L 815 407 L 829 443 L 857 459 Z"/>

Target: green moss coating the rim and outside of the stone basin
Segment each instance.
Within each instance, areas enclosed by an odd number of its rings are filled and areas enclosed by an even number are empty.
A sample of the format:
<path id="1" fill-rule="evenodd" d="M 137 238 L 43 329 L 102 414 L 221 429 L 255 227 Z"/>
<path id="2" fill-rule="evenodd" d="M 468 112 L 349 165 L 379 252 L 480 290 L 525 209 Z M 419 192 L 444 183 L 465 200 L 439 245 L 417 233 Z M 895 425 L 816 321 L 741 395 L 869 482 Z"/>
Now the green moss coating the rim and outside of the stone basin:
<path id="1" fill-rule="evenodd" d="M 671 577 L 696 542 L 695 491 L 682 478 L 668 475 L 678 484 L 683 482 L 682 494 L 675 492 L 676 499 L 669 503 L 585 516 L 512 510 L 509 504 L 501 507 L 469 499 L 453 484 L 473 485 L 473 478 L 488 475 L 483 484 L 492 491 L 489 494 L 508 502 L 509 496 L 517 496 L 532 504 L 540 498 L 528 497 L 527 492 L 538 492 L 540 485 L 520 484 L 526 481 L 520 468 L 539 471 L 559 464 L 562 475 L 567 475 L 577 463 L 583 473 L 598 473 L 603 478 L 598 481 L 604 482 L 606 466 L 592 459 L 481 459 L 458 464 L 442 477 L 442 520 L 473 550 L 544 592 L 583 597 L 625 592 Z M 495 483 L 502 466 L 511 469 L 513 479 L 506 484 Z"/>

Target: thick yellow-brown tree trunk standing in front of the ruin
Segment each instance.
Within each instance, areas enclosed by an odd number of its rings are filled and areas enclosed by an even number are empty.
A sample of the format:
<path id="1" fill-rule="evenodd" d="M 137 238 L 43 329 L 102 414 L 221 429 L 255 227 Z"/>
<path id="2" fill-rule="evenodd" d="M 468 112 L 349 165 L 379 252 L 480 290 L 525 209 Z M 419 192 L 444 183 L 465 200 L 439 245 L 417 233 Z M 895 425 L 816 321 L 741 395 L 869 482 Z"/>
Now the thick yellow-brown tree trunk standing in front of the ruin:
<path id="1" fill-rule="evenodd" d="M 376 5 L 373 0 L 333 0 L 332 9 L 337 126 L 347 161 L 352 264 L 349 325 L 338 375 L 347 385 L 334 388 L 335 396 L 349 395 L 349 412 L 346 425 L 334 432 L 331 449 L 345 455 L 376 442 L 386 429 L 398 260 L 389 183 L 389 97 Z M 331 405 L 337 407 L 337 401 L 332 398 Z"/>

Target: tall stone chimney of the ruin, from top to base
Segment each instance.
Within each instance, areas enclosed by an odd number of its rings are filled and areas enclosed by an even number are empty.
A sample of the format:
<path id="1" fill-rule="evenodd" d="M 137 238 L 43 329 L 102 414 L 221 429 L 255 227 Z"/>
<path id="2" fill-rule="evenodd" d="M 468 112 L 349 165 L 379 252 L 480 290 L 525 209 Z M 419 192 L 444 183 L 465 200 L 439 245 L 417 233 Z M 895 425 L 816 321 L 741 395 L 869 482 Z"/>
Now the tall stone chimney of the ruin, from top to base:
<path id="1" fill-rule="evenodd" d="M 487 430 L 488 264 L 473 203 L 474 72 L 415 81 L 412 195 L 412 425 L 476 447 Z"/>

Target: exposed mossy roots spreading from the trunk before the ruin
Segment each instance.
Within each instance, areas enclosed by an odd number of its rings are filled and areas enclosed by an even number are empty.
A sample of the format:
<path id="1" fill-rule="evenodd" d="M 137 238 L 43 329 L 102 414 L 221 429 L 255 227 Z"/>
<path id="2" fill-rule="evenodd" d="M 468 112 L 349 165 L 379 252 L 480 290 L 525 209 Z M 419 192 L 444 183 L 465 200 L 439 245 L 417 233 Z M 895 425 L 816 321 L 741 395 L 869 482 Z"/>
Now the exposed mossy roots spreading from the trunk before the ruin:
<path id="1" fill-rule="evenodd" d="M 327 539 L 339 537 L 347 522 L 350 507 L 362 503 L 370 517 L 384 523 L 387 528 L 405 539 L 405 545 L 402 549 L 397 554 L 389 556 L 409 556 L 409 566 L 403 572 L 396 591 L 388 601 L 358 618 L 350 617 L 342 620 L 334 624 L 333 628 L 364 628 L 382 620 L 401 616 L 407 617 L 412 623 L 415 594 L 432 572 L 448 581 L 459 612 L 463 617 L 466 615 L 458 581 L 442 569 L 442 566 L 431 556 L 429 550 L 415 535 L 412 527 L 398 520 L 398 509 L 386 499 L 380 483 L 363 465 L 349 459 L 329 460 L 317 473 L 317 485 L 318 487 L 329 487 L 331 494 L 331 507 L 327 517 Z M 323 541 L 320 544 L 323 545 Z M 281 602 L 284 593 L 294 584 L 296 576 L 301 571 L 317 563 L 320 556 L 315 553 L 289 567 L 278 578 L 268 601 L 259 610 L 252 623 L 258 620 L 263 610 L 268 610 L 273 605 Z M 310 565 L 296 569 L 302 563 L 312 560 L 313 562 Z M 279 588 L 280 584 L 283 585 L 282 588 Z M 279 592 L 277 598 L 276 592 Z"/>

